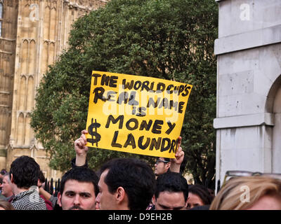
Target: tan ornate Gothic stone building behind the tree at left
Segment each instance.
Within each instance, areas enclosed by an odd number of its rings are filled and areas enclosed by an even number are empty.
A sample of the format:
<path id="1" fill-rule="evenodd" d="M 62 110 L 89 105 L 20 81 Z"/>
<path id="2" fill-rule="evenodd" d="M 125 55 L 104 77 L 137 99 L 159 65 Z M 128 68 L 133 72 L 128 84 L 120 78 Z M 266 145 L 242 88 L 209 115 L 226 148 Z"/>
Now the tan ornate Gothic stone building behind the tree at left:
<path id="1" fill-rule="evenodd" d="M 64 48 L 71 25 L 107 0 L 0 0 L 0 169 L 29 155 L 58 178 L 34 138 L 30 113 L 41 77 Z"/>

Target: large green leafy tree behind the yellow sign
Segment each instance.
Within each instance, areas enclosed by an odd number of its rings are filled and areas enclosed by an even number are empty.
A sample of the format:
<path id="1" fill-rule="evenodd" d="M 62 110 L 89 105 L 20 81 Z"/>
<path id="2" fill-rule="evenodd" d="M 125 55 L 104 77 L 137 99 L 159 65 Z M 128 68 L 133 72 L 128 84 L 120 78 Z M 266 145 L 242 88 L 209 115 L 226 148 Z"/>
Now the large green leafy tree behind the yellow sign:
<path id="1" fill-rule="evenodd" d="M 127 73 L 193 85 L 181 134 L 185 171 L 211 186 L 217 20 L 214 0 L 112 0 L 79 18 L 69 49 L 42 78 L 32 113 L 31 125 L 51 155 L 51 167 L 70 168 L 74 139 L 86 127 L 91 71 Z M 110 158 L 128 156 L 137 155 L 91 150 L 88 162 L 98 169 Z"/>

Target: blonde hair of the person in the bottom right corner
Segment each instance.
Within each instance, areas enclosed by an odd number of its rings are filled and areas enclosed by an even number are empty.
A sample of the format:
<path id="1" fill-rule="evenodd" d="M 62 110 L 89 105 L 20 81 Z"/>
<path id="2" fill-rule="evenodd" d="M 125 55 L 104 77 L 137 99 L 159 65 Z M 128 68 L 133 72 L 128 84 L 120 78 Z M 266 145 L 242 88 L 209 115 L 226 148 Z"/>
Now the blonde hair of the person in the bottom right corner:
<path id="1" fill-rule="evenodd" d="M 221 188 L 209 209 L 249 209 L 264 195 L 274 196 L 281 202 L 281 181 L 268 176 L 235 177 Z"/>

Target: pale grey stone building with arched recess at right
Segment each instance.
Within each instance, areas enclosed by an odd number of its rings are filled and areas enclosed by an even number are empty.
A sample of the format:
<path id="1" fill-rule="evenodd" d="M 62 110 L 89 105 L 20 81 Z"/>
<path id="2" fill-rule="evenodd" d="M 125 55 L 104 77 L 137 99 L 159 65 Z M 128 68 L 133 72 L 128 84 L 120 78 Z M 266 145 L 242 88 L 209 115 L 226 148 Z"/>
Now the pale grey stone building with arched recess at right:
<path id="1" fill-rule="evenodd" d="M 216 1 L 216 180 L 281 173 L 281 1 Z"/>

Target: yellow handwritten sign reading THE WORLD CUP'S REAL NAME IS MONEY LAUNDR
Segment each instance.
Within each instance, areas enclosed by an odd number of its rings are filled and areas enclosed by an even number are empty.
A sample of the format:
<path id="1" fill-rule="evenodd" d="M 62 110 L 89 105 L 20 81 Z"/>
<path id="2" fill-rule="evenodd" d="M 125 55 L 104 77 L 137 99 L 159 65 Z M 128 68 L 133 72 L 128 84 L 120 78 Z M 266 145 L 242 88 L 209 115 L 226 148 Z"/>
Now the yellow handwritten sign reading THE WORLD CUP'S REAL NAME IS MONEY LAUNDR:
<path id="1" fill-rule="evenodd" d="M 192 85 L 93 71 L 87 146 L 175 158 Z"/>

